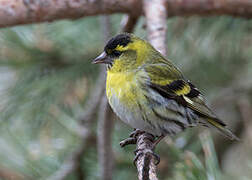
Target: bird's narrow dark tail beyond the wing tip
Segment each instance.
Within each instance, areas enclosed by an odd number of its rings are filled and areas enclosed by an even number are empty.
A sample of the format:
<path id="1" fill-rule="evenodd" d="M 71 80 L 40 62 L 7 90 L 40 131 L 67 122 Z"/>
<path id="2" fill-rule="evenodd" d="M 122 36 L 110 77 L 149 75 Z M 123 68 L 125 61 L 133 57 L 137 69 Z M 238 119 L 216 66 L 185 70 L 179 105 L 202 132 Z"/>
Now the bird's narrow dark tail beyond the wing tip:
<path id="1" fill-rule="evenodd" d="M 207 119 L 208 123 L 213 127 L 217 128 L 224 136 L 228 137 L 230 140 L 240 141 L 240 139 L 234 135 L 225 125 L 216 122 L 214 119 Z"/>

